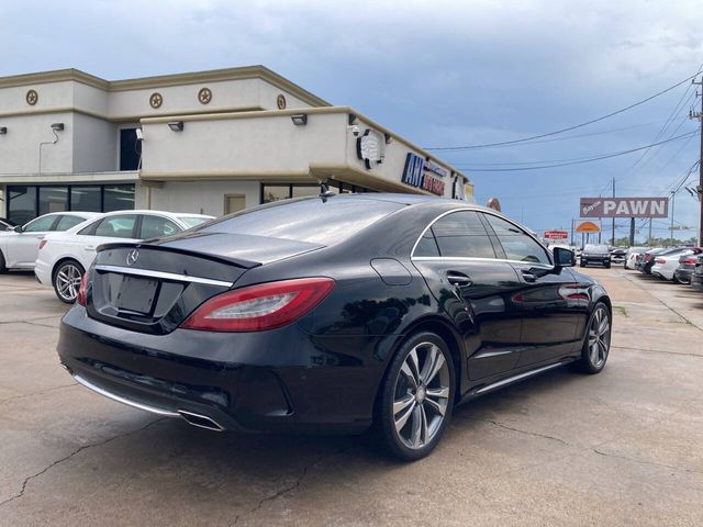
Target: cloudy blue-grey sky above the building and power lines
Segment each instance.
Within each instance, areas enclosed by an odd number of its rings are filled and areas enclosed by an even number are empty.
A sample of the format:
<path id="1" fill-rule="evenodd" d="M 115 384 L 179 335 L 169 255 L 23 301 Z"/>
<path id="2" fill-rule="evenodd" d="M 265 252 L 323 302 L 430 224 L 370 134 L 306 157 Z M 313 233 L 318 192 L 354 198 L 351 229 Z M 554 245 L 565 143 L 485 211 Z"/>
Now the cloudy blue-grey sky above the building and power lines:
<path id="1" fill-rule="evenodd" d="M 702 26 L 693 0 L 3 0 L 0 75 L 75 67 L 123 79 L 263 64 L 420 145 L 471 146 L 590 121 L 693 76 Z M 700 110 L 701 99 L 684 82 L 549 141 L 437 154 L 473 180 L 477 201 L 498 197 L 535 231 L 568 227 L 578 198 L 609 194 L 613 177 L 618 195 L 669 192 L 698 160 L 699 136 L 595 162 L 495 169 L 695 132 L 692 104 Z M 696 210 L 682 189 L 676 223 L 696 227 Z M 656 221 L 655 233 L 667 225 Z"/>

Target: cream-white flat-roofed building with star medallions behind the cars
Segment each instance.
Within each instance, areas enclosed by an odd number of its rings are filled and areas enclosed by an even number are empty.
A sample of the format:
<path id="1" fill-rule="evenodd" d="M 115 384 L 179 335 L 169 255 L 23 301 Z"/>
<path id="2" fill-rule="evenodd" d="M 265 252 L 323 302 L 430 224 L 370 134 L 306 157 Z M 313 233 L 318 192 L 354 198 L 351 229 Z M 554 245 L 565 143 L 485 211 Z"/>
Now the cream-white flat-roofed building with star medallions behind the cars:
<path id="1" fill-rule="evenodd" d="M 222 215 L 337 191 L 472 200 L 468 178 L 348 106 L 243 67 L 107 81 L 0 78 L 0 216 L 160 209 Z"/>

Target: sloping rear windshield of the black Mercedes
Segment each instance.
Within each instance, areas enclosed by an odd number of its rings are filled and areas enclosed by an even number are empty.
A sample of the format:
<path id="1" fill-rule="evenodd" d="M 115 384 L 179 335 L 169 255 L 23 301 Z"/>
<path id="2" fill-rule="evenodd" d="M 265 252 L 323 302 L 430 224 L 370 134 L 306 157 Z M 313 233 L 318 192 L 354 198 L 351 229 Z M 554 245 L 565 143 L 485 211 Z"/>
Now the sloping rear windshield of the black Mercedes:
<path id="1" fill-rule="evenodd" d="M 402 204 L 389 201 L 331 198 L 323 202 L 314 198 L 244 211 L 208 224 L 200 232 L 268 236 L 330 246 L 401 208 Z"/>

